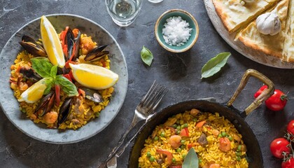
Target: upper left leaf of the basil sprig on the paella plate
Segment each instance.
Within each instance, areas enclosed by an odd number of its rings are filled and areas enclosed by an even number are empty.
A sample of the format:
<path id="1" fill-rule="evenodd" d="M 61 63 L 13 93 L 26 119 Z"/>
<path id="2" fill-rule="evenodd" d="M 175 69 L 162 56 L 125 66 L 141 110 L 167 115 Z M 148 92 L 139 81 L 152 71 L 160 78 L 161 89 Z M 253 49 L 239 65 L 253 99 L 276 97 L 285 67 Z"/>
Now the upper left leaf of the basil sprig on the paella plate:
<path id="1" fill-rule="evenodd" d="M 49 62 L 49 59 L 44 57 L 36 57 L 31 59 L 31 66 L 41 77 L 47 78 L 50 77 L 50 71 L 52 64 Z"/>

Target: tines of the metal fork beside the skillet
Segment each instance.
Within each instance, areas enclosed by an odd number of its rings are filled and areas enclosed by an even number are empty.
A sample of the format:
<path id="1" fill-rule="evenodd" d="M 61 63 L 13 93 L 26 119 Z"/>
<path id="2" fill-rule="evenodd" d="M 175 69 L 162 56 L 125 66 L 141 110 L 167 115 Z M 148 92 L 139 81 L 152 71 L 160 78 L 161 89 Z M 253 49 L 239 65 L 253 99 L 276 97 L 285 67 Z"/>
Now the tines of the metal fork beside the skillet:
<path id="1" fill-rule="evenodd" d="M 158 104 L 160 103 L 161 99 L 167 94 L 168 89 L 167 87 L 156 83 L 154 80 L 151 88 L 148 90 L 146 95 L 141 99 L 141 106 L 145 107 L 146 109 L 151 109 L 154 111 Z M 149 110 L 149 112 L 151 112 Z"/>

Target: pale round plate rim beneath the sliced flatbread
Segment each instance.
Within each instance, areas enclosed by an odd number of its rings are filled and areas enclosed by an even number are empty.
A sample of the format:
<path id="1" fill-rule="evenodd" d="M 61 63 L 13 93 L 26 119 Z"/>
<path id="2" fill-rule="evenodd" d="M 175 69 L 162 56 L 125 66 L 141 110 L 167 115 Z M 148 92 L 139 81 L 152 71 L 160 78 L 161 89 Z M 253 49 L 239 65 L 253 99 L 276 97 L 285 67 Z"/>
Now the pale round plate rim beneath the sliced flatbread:
<path id="1" fill-rule="evenodd" d="M 223 22 L 218 17 L 216 13 L 216 9 L 214 8 L 214 3 L 212 0 L 204 0 L 205 8 L 207 9 L 207 14 L 214 25 L 218 34 L 235 50 L 248 57 L 249 59 L 258 62 L 260 64 L 264 64 L 267 66 L 272 66 L 281 69 L 294 69 L 294 63 L 283 62 L 281 59 L 274 57 L 272 55 L 266 55 L 263 52 L 253 50 L 252 48 L 248 48 L 246 45 L 241 43 L 241 41 L 234 41 L 236 33 L 229 34 L 227 29 L 225 29 Z"/>

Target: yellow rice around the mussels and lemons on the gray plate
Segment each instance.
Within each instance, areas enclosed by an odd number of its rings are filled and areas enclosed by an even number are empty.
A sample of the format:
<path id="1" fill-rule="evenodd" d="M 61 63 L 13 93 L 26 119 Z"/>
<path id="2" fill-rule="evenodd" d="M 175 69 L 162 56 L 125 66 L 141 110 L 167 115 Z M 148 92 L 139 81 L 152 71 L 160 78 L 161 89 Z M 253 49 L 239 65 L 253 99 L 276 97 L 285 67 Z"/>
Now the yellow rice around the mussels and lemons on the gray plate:
<path id="1" fill-rule="evenodd" d="M 89 41 L 90 43 L 92 43 L 92 45 L 97 46 L 97 43 L 93 42 L 90 36 L 87 36 L 86 34 L 81 34 L 79 57 L 78 59 L 76 59 L 76 62 L 80 62 L 80 63 L 85 62 L 84 60 L 85 54 L 83 54 L 83 52 L 85 52 L 84 50 L 87 50 L 87 49 L 83 48 L 83 45 L 85 45 L 86 43 L 89 43 Z M 10 69 L 11 69 L 10 87 L 13 90 L 14 96 L 16 99 L 19 99 L 20 94 L 22 94 L 22 92 L 25 91 L 24 89 L 20 90 L 20 87 L 17 84 L 18 76 L 19 76 L 19 72 L 17 73 L 18 68 L 20 66 L 31 66 L 30 59 L 33 57 L 35 56 L 29 54 L 27 51 L 24 50 L 18 54 L 18 56 L 16 57 L 14 61 L 14 64 L 10 66 Z M 104 66 L 105 68 L 110 69 L 110 62 L 111 61 L 108 55 L 106 55 L 102 59 L 99 59 L 97 62 L 91 62 L 91 63 L 87 62 L 87 63 L 95 64 L 98 66 Z M 32 85 L 32 83 L 29 83 L 29 81 L 22 80 L 21 82 L 26 83 L 27 85 Z M 78 83 L 75 83 L 75 84 L 79 85 Z M 90 120 L 99 117 L 100 111 L 102 111 L 109 104 L 113 90 L 114 90 L 113 87 L 109 87 L 105 90 L 98 90 L 97 92 L 99 92 L 99 94 L 101 94 L 103 97 L 103 102 L 99 104 L 94 103 L 91 100 L 85 99 L 85 97 L 83 97 L 81 99 L 80 106 L 78 107 L 79 112 L 76 113 L 76 111 L 74 110 L 75 109 L 74 105 L 73 105 L 67 120 L 65 120 L 64 123 L 59 125 L 59 129 L 69 128 L 69 129 L 76 130 L 79 127 L 82 127 L 83 125 L 87 124 L 87 122 L 89 122 Z M 50 111 L 56 111 L 58 113 L 59 107 L 61 106 L 65 98 L 66 98 L 66 95 L 61 90 L 60 105 L 53 106 L 53 108 Z M 30 118 L 31 120 L 33 120 L 34 123 L 44 123 L 49 128 L 57 128 L 57 121 L 55 123 L 46 123 L 46 120 L 44 117 L 38 117 L 38 115 L 36 115 L 35 109 L 39 103 L 40 103 L 40 100 L 33 104 L 29 104 L 27 102 L 20 102 L 20 111 L 25 113 L 27 118 Z"/>

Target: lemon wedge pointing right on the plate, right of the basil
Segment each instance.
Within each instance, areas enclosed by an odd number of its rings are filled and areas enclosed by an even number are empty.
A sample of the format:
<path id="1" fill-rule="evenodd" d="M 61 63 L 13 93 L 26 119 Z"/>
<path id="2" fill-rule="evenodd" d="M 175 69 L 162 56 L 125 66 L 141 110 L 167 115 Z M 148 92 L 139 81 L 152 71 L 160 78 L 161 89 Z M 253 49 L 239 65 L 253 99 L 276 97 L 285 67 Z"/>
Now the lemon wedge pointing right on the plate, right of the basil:
<path id="1" fill-rule="evenodd" d="M 85 87 L 102 90 L 113 86 L 118 81 L 118 74 L 102 66 L 92 64 L 69 64 L 73 78 Z"/>

